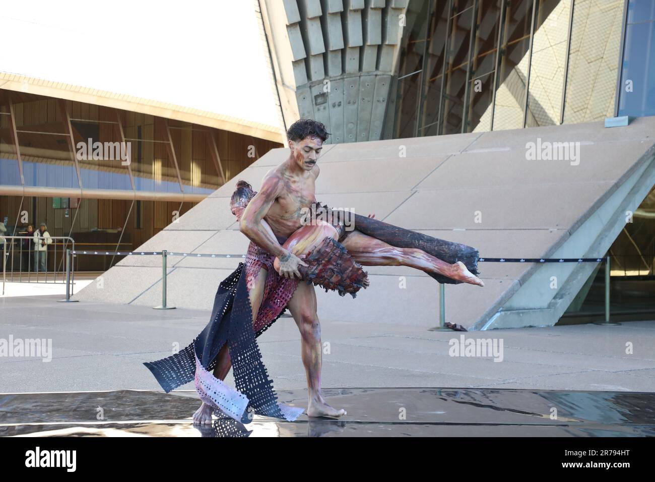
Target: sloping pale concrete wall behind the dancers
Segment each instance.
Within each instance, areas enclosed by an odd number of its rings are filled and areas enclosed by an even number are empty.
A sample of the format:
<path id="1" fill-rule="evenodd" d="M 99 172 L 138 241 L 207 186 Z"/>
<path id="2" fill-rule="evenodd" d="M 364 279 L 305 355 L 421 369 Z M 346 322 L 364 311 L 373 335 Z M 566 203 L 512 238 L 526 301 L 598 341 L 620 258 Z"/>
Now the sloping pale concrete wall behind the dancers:
<path id="1" fill-rule="evenodd" d="M 466 243 L 489 258 L 603 256 L 612 233 L 625 222 L 624 211 L 639 205 L 648 182 L 652 187 L 654 136 L 655 117 L 645 117 L 612 129 L 595 122 L 334 144 L 326 146 L 319 159 L 316 199 Z M 530 142 L 580 144 L 574 159 L 538 161 L 526 159 Z M 140 249 L 246 252 L 248 240 L 229 210 L 236 181 L 245 179 L 258 190 L 266 172 L 287 156 L 288 150 L 270 151 Z M 218 283 L 237 264 L 227 258 L 170 258 L 168 303 L 210 309 Z M 160 266 L 157 256 L 126 258 L 103 275 L 102 288 L 92 283 L 75 298 L 155 306 L 161 299 Z M 558 271 L 558 289 L 552 290 L 549 273 L 538 273 L 543 268 L 480 263 L 484 288 L 446 286 L 447 320 L 489 329 L 496 326 L 489 321 L 499 310 L 535 310 L 538 318 L 514 317 L 506 326 L 555 323 L 586 277 L 578 271 Z M 428 275 L 403 267 L 367 271 L 371 286 L 355 299 L 317 290 L 319 317 L 424 327 L 438 323 L 438 283 Z M 537 273 L 548 285 L 530 283 Z M 551 303 L 558 296 L 555 310 Z"/>

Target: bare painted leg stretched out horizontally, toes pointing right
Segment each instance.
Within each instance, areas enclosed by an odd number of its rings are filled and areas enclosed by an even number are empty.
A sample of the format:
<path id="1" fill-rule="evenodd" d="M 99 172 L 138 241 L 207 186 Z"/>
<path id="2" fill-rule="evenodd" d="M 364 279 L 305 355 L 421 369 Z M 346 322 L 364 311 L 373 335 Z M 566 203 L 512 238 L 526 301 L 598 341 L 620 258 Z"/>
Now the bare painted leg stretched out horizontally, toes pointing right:
<path id="1" fill-rule="evenodd" d="M 350 256 L 362 266 L 409 266 L 429 273 L 438 273 L 471 285 L 485 285 L 460 261 L 449 264 L 421 249 L 397 248 L 358 230 L 348 234 L 343 245 Z"/>

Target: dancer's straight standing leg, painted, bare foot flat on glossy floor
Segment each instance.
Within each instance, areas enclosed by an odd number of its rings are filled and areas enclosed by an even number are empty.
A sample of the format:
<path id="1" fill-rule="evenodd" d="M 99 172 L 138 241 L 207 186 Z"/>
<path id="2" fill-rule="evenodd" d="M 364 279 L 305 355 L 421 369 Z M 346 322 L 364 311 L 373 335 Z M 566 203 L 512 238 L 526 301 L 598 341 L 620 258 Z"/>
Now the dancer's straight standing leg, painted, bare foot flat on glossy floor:
<path id="1" fill-rule="evenodd" d="M 287 307 L 301 334 L 301 353 L 309 390 L 307 415 L 331 417 L 345 415 L 345 410 L 330 407 L 321 395 L 321 325 L 316 315 L 314 285 L 298 283 Z"/>

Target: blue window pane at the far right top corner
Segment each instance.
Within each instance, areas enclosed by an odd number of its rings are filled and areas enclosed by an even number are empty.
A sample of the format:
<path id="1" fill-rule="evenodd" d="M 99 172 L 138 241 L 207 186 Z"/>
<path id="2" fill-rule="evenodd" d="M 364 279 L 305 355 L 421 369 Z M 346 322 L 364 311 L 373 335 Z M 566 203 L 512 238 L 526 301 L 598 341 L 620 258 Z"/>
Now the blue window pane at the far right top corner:
<path id="1" fill-rule="evenodd" d="M 626 26 L 619 115 L 655 115 L 655 22 Z"/>

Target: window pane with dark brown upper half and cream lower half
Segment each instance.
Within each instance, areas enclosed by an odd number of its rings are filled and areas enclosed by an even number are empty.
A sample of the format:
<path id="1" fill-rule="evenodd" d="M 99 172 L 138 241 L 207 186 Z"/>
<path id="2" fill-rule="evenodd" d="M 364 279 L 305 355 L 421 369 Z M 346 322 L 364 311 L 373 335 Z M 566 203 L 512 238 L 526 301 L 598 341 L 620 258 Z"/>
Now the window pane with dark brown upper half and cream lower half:
<path id="1" fill-rule="evenodd" d="M 496 80 L 494 131 L 523 127 L 532 12 L 533 0 L 512 1 L 505 10 L 502 59 Z"/>

